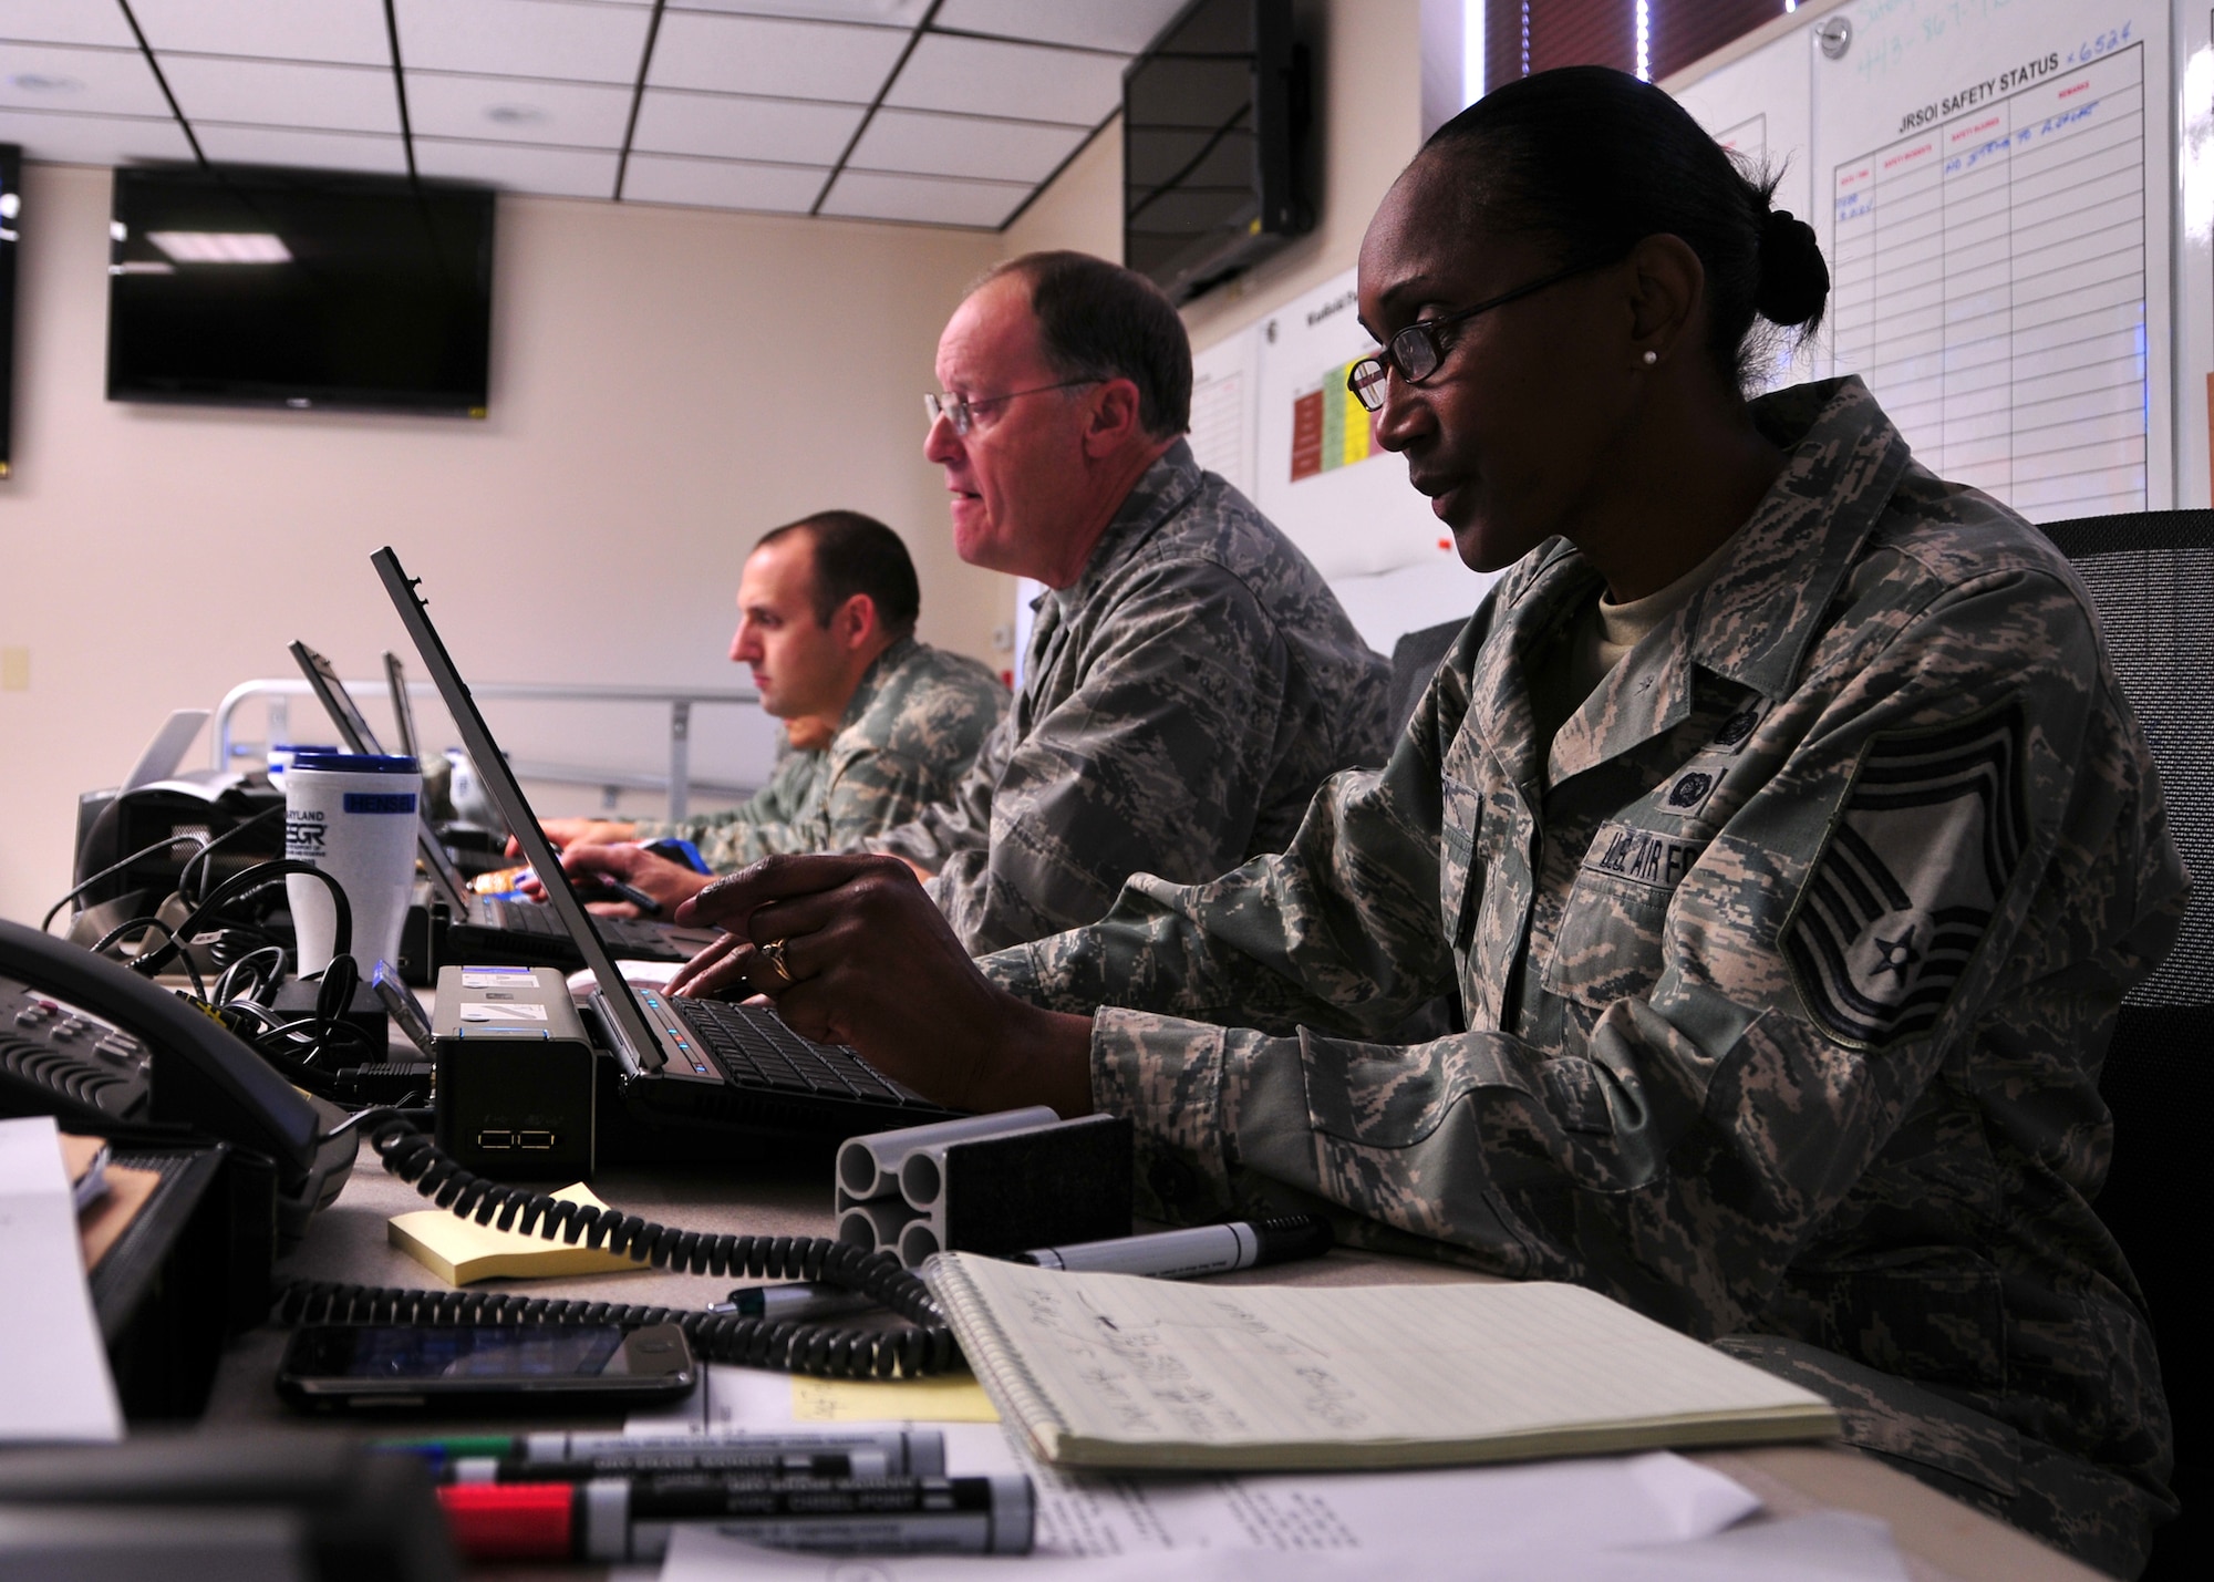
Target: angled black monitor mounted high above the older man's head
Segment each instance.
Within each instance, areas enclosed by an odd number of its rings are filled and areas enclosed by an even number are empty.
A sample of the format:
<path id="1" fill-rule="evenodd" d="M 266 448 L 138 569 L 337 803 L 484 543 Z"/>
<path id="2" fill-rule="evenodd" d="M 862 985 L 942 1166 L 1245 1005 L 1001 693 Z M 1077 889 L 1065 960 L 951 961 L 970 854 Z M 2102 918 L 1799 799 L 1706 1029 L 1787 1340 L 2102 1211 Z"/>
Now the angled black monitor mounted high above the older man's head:
<path id="1" fill-rule="evenodd" d="M 1315 224 L 1291 0 L 1196 0 L 1122 73 L 1122 261 L 1187 301 Z"/>

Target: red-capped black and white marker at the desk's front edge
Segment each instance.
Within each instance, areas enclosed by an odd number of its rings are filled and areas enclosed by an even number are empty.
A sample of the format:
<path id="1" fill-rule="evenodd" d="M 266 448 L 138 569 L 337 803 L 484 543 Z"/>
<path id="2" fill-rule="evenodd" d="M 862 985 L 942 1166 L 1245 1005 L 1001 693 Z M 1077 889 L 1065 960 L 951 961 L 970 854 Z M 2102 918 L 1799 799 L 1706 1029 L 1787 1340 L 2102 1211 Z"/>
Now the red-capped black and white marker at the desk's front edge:
<path id="1" fill-rule="evenodd" d="M 1036 1520 L 1021 1473 L 445 1485 L 438 1504 L 469 1560 L 660 1560 L 677 1524 L 777 1549 L 1021 1555 Z"/>

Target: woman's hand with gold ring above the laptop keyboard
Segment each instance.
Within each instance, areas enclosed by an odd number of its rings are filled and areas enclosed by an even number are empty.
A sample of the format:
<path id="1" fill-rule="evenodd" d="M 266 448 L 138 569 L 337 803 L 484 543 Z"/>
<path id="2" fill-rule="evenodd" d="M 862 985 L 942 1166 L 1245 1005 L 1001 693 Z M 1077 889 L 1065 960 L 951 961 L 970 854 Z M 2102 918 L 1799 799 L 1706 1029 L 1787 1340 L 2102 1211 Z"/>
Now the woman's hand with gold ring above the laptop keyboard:
<path id="1" fill-rule="evenodd" d="M 899 857 L 764 857 L 708 884 L 677 922 L 728 933 L 671 993 L 768 995 L 795 1033 L 850 1044 L 959 1110 L 1092 1112 L 1092 1019 L 992 984 Z"/>

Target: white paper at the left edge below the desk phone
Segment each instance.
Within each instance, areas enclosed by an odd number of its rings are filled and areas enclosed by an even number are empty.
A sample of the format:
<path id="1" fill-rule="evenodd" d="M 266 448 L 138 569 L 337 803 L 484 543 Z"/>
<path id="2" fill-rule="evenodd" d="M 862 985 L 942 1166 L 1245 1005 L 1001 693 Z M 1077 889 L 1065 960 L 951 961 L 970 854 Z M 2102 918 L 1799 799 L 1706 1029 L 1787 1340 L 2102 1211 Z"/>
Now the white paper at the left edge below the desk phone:
<path id="1" fill-rule="evenodd" d="M 0 1121 L 0 1442 L 106 1442 L 124 1414 L 84 1285 L 53 1117 Z"/>

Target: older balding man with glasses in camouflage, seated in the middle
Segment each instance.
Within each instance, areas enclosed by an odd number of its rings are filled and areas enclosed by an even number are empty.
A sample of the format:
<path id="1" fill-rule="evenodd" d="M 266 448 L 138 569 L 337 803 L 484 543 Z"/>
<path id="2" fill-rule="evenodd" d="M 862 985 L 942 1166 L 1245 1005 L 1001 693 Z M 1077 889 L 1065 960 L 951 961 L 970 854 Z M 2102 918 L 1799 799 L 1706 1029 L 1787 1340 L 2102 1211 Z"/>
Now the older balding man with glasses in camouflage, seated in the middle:
<path id="1" fill-rule="evenodd" d="M 1094 922 L 1134 873 L 1275 851 L 1386 758 L 1386 665 L 1315 567 L 1191 459 L 1191 346 L 1125 268 L 1036 253 L 939 339 L 923 454 L 954 547 L 1047 592 L 1021 696 L 950 802 L 870 840 L 970 951 Z"/>

